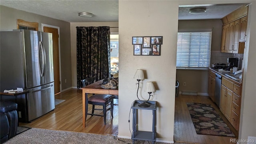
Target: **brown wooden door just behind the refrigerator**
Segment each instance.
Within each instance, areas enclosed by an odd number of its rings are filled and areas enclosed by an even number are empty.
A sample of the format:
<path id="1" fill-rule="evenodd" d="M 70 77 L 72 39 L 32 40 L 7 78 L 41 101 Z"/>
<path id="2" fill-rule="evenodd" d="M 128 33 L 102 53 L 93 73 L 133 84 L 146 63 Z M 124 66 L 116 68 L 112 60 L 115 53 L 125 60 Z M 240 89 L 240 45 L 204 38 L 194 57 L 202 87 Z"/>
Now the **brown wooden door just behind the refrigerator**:
<path id="1" fill-rule="evenodd" d="M 54 67 L 54 94 L 60 93 L 60 49 L 59 49 L 59 33 L 60 28 L 56 26 L 50 26 L 42 24 L 43 32 L 52 33 L 52 45 L 53 45 L 53 67 Z"/>

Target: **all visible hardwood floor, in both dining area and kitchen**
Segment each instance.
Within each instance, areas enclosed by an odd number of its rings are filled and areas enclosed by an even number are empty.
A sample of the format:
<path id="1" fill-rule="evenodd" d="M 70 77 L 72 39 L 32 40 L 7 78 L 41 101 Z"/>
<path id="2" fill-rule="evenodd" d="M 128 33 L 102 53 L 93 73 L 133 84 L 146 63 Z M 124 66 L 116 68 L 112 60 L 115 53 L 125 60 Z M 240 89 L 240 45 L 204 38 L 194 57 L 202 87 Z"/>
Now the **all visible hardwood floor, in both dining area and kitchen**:
<path id="1" fill-rule="evenodd" d="M 118 132 L 118 106 L 114 106 L 114 118 L 111 118 L 110 111 L 107 112 L 106 125 L 103 117 L 87 116 L 86 128 L 83 128 L 82 121 L 82 90 L 71 89 L 61 92 L 55 99 L 66 100 L 55 106 L 55 109 L 48 114 L 33 120 L 31 123 L 19 123 L 20 126 L 32 128 L 50 128 L 56 130 L 68 130 L 76 132 L 89 132 L 95 134 L 116 134 Z M 178 96 L 175 99 L 174 115 L 174 141 L 194 142 L 202 144 L 229 144 L 230 138 L 225 136 L 210 136 L 196 134 L 191 120 L 186 102 L 199 102 L 211 104 L 220 114 L 222 119 L 228 124 L 232 132 L 238 136 L 237 132 L 220 112 L 216 104 L 208 96 Z M 114 100 L 118 104 L 118 100 Z M 92 106 L 89 105 L 88 111 Z M 102 112 L 100 112 L 102 114 Z M 100 114 L 98 112 L 98 114 Z M 237 139 L 238 137 L 236 137 Z"/>

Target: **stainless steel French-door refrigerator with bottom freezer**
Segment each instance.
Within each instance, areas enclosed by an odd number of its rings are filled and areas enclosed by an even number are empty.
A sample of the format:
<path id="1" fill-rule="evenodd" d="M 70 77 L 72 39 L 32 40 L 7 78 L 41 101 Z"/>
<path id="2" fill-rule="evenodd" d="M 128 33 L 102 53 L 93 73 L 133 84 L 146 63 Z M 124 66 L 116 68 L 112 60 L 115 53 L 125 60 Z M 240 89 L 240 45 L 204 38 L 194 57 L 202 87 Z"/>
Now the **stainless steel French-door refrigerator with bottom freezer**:
<path id="1" fill-rule="evenodd" d="M 0 32 L 0 88 L 23 88 L 18 117 L 30 122 L 54 110 L 52 34 L 32 30 Z M 1 96 L 14 100 L 14 96 Z"/>

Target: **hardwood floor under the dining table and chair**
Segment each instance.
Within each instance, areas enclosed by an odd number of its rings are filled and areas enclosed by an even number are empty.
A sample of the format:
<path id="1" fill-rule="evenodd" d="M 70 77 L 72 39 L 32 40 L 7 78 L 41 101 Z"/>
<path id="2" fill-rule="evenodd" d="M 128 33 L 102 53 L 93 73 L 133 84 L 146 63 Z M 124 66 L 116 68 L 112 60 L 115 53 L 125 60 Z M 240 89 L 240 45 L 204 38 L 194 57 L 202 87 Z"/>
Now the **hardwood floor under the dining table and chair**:
<path id="1" fill-rule="evenodd" d="M 114 106 L 114 118 L 110 116 L 110 111 L 107 111 L 106 125 L 104 125 L 103 117 L 88 115 L 86 127 L 83 128 L 82 90 L 67 90 L 55 95 L 55 99 L 65 101 L 56 105 L 53 111 L 33 120 L 31 123 L 20 122 L 19 125 L 32 128 L 50 128 L 95 134 L 114 135 L 118 132 L 118 106 Z M 118 100 L 114 99 L 114 103 L 118 104 Z M 102 108 L 102 106 L 95 106 L 95 108 Z M 89 104 L 88 112 L 91 112 L 91 110 L 92 105 Z M 103 112 L 99 110 L 96 110 L 94 113 L 103 114 Z"/>

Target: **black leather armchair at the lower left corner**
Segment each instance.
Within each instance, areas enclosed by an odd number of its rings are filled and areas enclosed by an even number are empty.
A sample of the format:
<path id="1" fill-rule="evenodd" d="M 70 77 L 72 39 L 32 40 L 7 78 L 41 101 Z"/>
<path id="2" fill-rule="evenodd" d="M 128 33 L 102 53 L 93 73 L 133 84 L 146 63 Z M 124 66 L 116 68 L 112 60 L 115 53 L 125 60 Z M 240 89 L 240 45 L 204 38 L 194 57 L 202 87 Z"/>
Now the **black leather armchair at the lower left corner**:
<path id="1" fill-rule="evenodd" d="M 16 136 L 18 128 L 17 104 L 10 101 L 1 101 L 1 144 Z"/>

